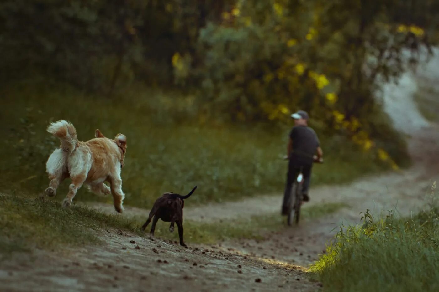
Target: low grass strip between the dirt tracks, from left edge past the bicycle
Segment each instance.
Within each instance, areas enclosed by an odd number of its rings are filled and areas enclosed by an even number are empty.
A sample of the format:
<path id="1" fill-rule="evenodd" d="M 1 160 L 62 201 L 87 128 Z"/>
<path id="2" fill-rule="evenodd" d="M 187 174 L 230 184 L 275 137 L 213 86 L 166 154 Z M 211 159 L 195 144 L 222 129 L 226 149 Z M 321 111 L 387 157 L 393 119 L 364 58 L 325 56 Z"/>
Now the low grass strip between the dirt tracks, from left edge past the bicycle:
<path id="1" fill-rule="evenodd" d="M 303 219 L 333 213 L 344 204 L 330 203 L 304 208 Z M 58 249 L 61 246 L 101 244 L 100 233 L 105 229 L 121 229 L 137 235 L 145 217 L 122 217 L 104 214 L 86 207 L 61 208 L 52 201 L 30 196 L 0 194 L 0 255 L 12 251 L 34 248 Z M 169 223 L 159 221 L 155 236 L 163 240 L 178 240 L 178 232 L 169 232 Z M 213 244 L 227 239 L 261 238 L 264 231 L 285 228 L 284 217 L 279 214 L 255 216 L 234 222 L 202 223 L 185 220 L 184 238 L 189 244 Z"/>

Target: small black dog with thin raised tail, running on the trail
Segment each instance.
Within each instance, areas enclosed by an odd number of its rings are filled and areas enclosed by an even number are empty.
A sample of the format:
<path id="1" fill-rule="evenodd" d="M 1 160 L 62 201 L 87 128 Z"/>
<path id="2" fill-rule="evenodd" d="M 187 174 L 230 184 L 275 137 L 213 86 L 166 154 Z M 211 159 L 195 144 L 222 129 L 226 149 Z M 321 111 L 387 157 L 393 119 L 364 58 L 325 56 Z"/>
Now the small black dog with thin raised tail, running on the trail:
<path id="1" fill-rule="evenodd" d="M 151 226 L 150 235 L 154 236 L 155 224 L 157 224 L 158 219 L 162 219 L 165 222 L 171 222 L 169 226 L 169 231 L 174 231 L 174 222 L 178 227 L 178 236 L 180 237 L 180 246 L 187 247 L 183 242 L 183 207 L 184 199 L 189 198 L 195 191 L 197 186 L 191 190 L 186 196 L 180 196 L 173 192 L 166 192 L 160 198 L 158 198 L 154 206 L 152 206 L 151 212 L 149 212 L 148 220 L 143 224 L 142 230 L 148 226 L 151 222 L 151 218 L 154 216 Z"/>

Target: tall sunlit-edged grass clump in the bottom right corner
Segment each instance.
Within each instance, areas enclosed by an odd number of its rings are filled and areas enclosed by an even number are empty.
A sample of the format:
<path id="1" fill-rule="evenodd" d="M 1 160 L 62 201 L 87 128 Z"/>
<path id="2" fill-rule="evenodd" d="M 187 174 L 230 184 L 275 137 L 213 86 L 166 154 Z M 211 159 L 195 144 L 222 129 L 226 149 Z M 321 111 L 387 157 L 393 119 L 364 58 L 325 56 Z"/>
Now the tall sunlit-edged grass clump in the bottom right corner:
<path id="1" fill-rule="evenodd" d="M 439 208 L 342 228 L 312 267 L 325 291 L 439 291 Z"/>

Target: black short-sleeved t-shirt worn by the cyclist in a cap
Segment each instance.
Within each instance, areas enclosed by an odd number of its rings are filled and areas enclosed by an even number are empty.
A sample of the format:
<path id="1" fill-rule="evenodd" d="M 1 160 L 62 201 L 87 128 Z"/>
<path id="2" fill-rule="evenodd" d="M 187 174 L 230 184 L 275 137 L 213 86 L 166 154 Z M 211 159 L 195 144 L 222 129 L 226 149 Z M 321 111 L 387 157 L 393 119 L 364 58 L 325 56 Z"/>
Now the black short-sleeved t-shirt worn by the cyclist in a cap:
<path id="1" fill-rule="evenodd" d="M 313 163 L 313 155 L 320 146 L 319 138 L 312 128 L 295 126 L 291 129 L 290 138 L 293 142 L 291 158 L 299 159 L 303 163 Z"/>

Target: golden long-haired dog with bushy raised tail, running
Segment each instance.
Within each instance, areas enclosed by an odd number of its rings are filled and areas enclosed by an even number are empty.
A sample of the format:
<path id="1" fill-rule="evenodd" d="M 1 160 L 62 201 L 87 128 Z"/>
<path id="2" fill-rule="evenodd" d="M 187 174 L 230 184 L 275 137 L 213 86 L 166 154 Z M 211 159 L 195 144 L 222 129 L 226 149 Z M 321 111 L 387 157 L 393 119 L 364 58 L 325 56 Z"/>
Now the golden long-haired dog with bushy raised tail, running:
<path id="1" fill-rule="evenodd" d="M 85 183 L 91 192 L 97 195 L 113 195 L 115 210 L 123 211 L 120 177 L 126 151 L 126 137 L 116 135 L 115 139 L 105 138 L 96 130 L 94 139 L 86 142 L 78 141 L 75 127 L 68 121 L 61 120 L 50 123 L 47 132 L 61 140 L 61 146 L 50 154 L 46 163 L 50 184 L 44 191 L 47 196 L 55 196 L 58 185 L 71 178 L 69 191 L 63 200 L 63 207 L 70 207 L 79 188 Z M 104 184 L 107 181 L 111 188 Z"/>

